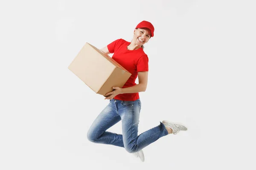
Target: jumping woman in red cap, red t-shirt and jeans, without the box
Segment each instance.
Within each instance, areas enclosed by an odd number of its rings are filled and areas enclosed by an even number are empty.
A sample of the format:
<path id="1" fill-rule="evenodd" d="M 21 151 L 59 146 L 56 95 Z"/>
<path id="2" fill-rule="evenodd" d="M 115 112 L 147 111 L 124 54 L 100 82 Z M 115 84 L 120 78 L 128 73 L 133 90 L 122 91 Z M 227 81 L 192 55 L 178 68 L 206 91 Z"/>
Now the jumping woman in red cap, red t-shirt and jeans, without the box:
<path id="1" fill-rule="evenodd" d="M 187 130 L 183 125 L 163 121 L 138 136 L 141 109 L 139 92 L 146 90 L 148 82 L 148 56 L 143 51 L 143 45 L 151 37 L 154 37 L 154 26 L 148 21 L 142 21 L 134 29 L 131 42 L 118 39 L 101 49 L 105 54 L 114 53 L 112 58 L 132 75 L 122 88 L 113 87 L 114 90 L 106 94 L 105 99 L 110 99 L 110 102 L 87 133 L 89 141 L 124 147 L 129 153 L 140 157 L 141 161 L 144 161 L 142 149 L 148 144 L 170 133 L 177 134 L 180 130 Z M 135 83 L 137 76 L 139 84 Z M 106 131 L 120 120 L 122 134 Z"/>

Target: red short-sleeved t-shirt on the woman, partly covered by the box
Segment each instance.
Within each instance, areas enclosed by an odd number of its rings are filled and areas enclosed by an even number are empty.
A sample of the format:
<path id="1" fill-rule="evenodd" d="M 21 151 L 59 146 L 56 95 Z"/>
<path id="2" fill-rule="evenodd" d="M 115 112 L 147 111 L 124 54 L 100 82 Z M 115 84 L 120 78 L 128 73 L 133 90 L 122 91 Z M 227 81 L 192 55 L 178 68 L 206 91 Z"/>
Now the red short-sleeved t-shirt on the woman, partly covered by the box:
<path id="1" fill-rule="evenodd" d="M 131 42 L 123 39 L 118 39 L 108 45 L 108 51 L 114 53 L 112 58 L 122 67 L 131 73 L 131 77 L 127 80 L 122 88 L 127 88 L 136 85 L 135 80 L 139 71 L 148 71 L 148 56 L 143 51 L 143 48 L 136 50 L 128 50 L 127 46 Z M 134 101 L 139 99 L 139 93 L 119 94 L 114 99 L 124 101 Z"/>

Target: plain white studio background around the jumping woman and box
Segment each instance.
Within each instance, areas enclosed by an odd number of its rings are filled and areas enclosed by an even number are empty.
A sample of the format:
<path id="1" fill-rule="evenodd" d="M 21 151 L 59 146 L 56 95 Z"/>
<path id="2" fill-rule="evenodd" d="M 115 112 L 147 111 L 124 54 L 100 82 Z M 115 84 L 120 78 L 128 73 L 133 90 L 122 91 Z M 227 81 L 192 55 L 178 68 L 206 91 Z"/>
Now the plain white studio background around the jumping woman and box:
<path id="1" fill-rule="evenodd" d="M 255 17 L 253 0 L 1 1 L 0 169 L 255 170 Z M 87 140 L 109 101 L 67 68 L 85 42 L 131 41 L 142 20 L 155 32 L 139 133 L 188 127 L 143 148 L 145 162 Z"/>

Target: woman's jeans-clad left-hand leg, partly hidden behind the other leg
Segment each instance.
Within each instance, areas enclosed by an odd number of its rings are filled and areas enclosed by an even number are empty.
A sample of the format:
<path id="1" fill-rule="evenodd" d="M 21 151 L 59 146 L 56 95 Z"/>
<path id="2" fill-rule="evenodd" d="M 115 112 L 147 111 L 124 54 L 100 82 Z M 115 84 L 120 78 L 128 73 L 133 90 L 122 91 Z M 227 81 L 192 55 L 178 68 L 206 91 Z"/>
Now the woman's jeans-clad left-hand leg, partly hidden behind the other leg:
<path id="1" fill-rule="evenodd" d="M 106 131 L 120 120 L 121 117 L 117 113 L 116 105 L 111 100 L 90 126 L 87 139 L 94 143 L 124 147 L 122 135 Z"/>

